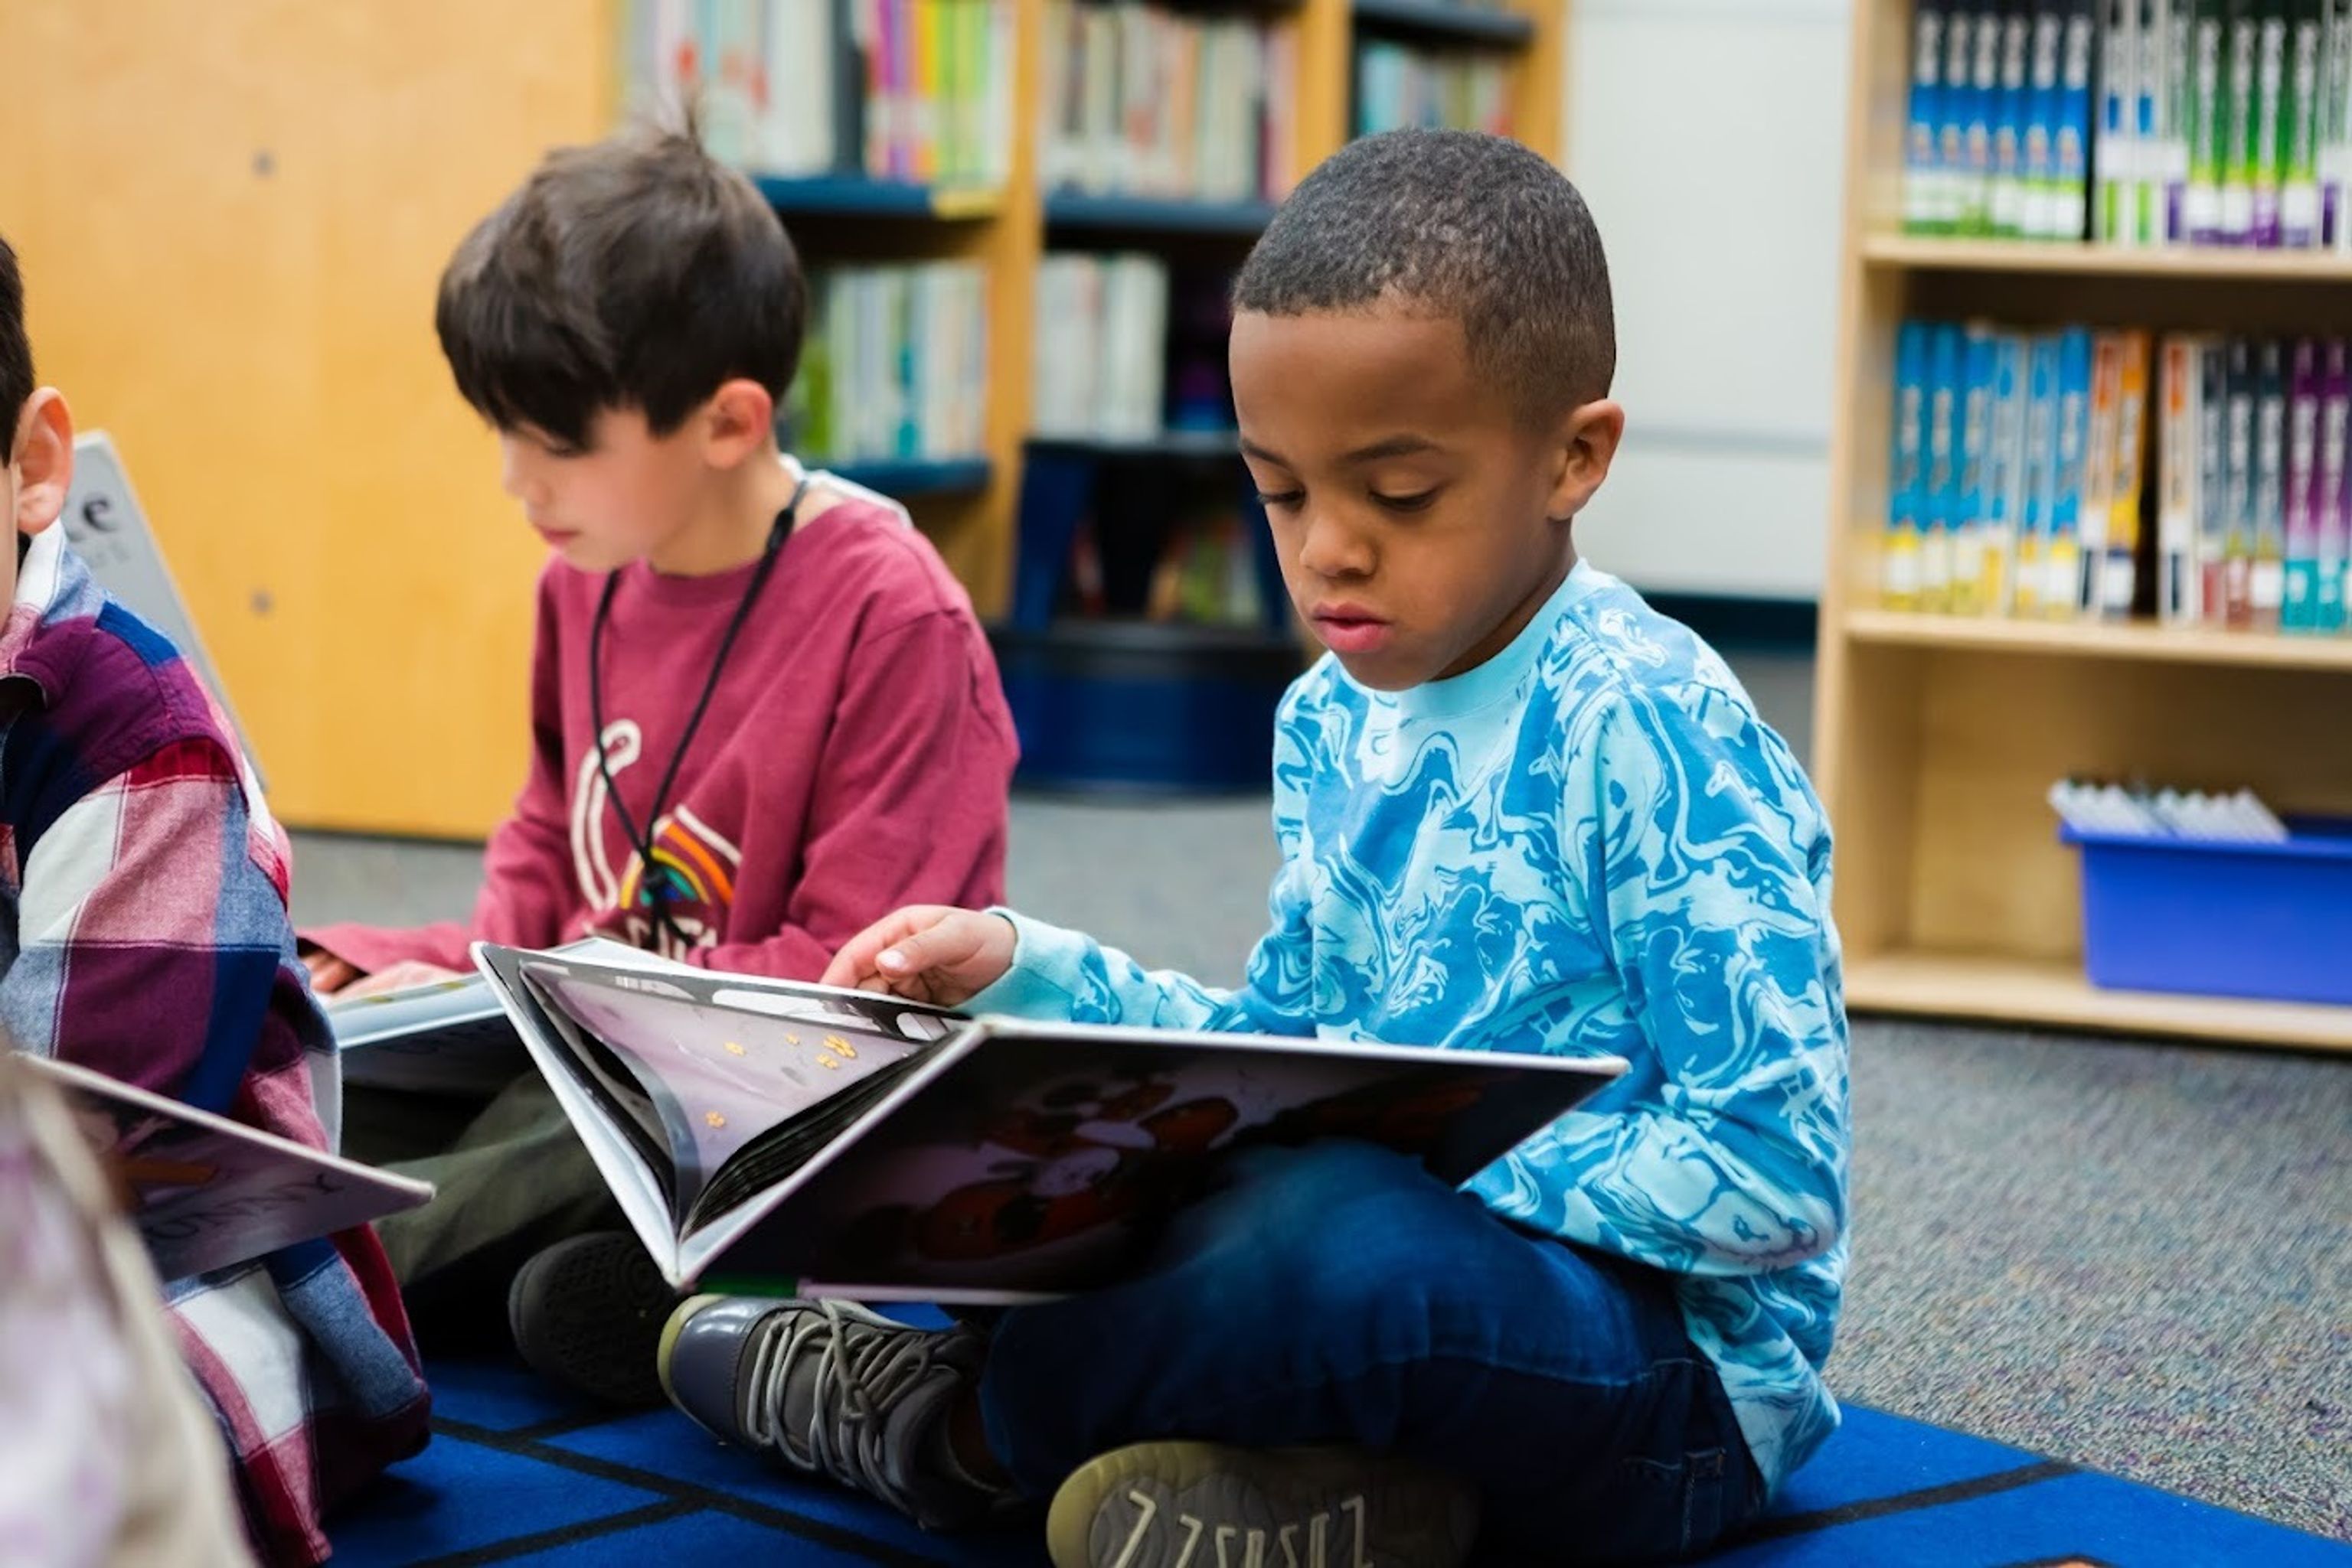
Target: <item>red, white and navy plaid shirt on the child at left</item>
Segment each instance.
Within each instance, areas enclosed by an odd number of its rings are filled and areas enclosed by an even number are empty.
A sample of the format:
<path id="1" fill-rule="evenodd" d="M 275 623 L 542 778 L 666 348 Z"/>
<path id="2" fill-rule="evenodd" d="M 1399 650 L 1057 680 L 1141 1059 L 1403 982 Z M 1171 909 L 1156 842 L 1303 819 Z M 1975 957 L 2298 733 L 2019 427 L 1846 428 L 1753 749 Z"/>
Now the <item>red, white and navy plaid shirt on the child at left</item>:
<path id="1" fill-rule="evenodd" d="M 294 957 L 289 849 L 219 705 L 64 541 L 0 628 L 0 1030 L 313 1147 L 341 1077 Z M 165 1286 L 268 1561 L 426 1441 L 430 1399 L 367 1227 Z"/>

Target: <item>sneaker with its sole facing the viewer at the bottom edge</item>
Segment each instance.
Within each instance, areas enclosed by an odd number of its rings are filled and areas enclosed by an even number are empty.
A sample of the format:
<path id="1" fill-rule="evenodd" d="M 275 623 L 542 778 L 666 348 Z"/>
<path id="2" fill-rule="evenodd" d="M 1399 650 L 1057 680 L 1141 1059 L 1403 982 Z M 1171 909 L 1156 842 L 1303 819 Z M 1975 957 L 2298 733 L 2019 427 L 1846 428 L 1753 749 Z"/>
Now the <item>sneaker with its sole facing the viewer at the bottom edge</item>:
<path id="1" fill-rule="evenodd" d="M 1461 1568 L 1477 1493 L 1364 1448 L 1136 1443 L 1061 1483 L 1044 1540 L 1054 1568 Z"/>

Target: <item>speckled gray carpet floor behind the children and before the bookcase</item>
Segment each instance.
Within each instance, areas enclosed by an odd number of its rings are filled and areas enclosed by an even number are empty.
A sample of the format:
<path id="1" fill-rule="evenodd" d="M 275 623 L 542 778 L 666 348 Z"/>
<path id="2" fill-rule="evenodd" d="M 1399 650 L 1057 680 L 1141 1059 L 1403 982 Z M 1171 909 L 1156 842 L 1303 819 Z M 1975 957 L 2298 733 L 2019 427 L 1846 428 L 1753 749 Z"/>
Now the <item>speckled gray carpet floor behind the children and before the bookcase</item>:
<path id="1" fill-rule="evenodd" d="M 1809 661 L 1740 658 L 1792 741 Z M 470 846 L 301 837 L 296 914 L 461 914 Z M 1240 976 L 1263 799 L 1014 804 L 1011 900 Z M 2352 1540 L 2352 1056 L 1856 1020 L 1860 1403 Z"/>

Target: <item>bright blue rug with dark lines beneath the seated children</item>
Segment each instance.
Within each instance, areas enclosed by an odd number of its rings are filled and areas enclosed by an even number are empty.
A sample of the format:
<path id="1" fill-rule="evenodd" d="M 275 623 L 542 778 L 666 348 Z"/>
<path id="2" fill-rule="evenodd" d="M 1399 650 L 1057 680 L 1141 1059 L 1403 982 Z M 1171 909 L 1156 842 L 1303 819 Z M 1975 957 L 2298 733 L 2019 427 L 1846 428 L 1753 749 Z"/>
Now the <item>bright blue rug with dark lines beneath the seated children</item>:
<path id="1" fill-rule="evenodd" d="M 675 1410 L 609 1415 L 520 1366 L 440 1363 L 430 1448 L 336 1519 L 336 1563 L 743 1561 L 1040 1568 L 1037 1535 L 924 1535 L 776 1474 Z M 1722 1568 L 2352 1568 L 2352 1547 L 1879 1410 L 1846 1425 Z"/>

